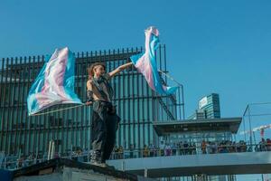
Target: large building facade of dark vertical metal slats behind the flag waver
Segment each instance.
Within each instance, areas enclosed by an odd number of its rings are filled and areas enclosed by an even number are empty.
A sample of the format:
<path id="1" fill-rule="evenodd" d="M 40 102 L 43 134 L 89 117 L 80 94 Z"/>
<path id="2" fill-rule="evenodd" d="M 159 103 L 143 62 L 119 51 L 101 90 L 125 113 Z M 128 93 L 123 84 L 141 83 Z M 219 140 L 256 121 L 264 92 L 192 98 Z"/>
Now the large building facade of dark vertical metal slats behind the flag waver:
<path id="1" fill-rule="evenodd" d="M 93 62 L 105 62 L 107 71 L 127 62 L 143 48 L 117 49 L 76 54 L 75 92 L 86 100 L 87 68 Z M 156 51 L 157 66 L 167 73 L 165 46 Z M 0 150 L 6 154 L 45 154 L 51 139 L 61 154 L 70 150 L 90 149 L 91 107 L 83 106 L 42 116 L 28 117 L 26 98 L 45 56 L 15 57 L 0 60 Z M 167 77 L 161 74 L 164 83 Z M 183 87 L 174 95 L 159 95 L 151 90 L 142 74 L 130 68 L 111 81 L 114 102 L 121 118 L 117 146 L 143 148 L 154 143 L 153 121 L 184 119 Z M 69 107 L 57 105 L 46 111 Z"/>

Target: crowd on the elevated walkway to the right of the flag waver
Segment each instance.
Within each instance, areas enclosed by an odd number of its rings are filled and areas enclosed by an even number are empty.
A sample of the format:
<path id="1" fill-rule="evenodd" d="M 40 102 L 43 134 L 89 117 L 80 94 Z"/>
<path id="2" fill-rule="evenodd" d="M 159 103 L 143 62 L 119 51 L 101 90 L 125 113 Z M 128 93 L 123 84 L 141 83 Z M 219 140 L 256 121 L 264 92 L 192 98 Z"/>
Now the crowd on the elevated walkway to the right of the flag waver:
<path id="1" fill-rule="evenodd" d="M 234 152 L 252 152 L 252 151 L 271 151 L 271 139 L 262 138 L 255 145 L 248 145 L 245 141 L 238 142 L 223 140 L 223 141 L 205 141 L 201 143 L 191 143 L 180 141 L 178 143 L 161 142 L 159 147 L 150 144 L 142 149 L 135 149 L 134 145 L 130 145 L 124 150 L 122 146 L 115 148 L 112 159 L 132 158 L 132 157 L 163 157 L 176 155 L 195 155 L 195 154 L 217 154 L 217 153 L 234 153 Z"/>

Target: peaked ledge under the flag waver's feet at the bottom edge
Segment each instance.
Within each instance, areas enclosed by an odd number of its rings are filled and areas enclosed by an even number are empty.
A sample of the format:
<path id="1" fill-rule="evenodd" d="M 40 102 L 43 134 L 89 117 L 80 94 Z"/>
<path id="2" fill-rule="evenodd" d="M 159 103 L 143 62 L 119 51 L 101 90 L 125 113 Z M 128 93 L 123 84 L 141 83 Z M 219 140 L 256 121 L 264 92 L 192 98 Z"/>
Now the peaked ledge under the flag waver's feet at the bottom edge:
<path id="1" fill-rule="evenodd" d="M 30 167 L 10 171 L 17 181 L 142 181 L 148 178 L 136 176 L 131 173 L 112 169 L 110 167 L 97 167 L 78 161 L 56 158 Z M 152 179 L 153 180 L 153 179 Z"/>

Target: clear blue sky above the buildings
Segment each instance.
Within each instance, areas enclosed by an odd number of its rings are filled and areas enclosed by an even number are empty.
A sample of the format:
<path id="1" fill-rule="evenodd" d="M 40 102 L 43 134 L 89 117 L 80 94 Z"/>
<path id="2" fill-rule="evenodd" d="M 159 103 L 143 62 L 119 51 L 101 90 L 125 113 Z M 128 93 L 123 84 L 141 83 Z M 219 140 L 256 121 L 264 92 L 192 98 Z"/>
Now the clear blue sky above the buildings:
<path id="1" fill-rule="evenodd" d="M 271 101 L 271 1 L 0 1 L 0 58 L 143 46 L 155 25 L 186 115 L 220 93 L 222 117 Z M 270 123 L 270 120 L 269 120 Z"/>

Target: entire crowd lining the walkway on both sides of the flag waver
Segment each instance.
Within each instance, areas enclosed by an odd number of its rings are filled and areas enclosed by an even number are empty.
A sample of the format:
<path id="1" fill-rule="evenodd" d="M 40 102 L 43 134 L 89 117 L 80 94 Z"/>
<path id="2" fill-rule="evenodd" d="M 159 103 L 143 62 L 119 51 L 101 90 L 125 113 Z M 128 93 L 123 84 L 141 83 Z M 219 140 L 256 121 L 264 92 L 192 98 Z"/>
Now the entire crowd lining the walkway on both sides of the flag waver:
<path id="1" fill-rule="evenodd" d="M 223 141 L 205 141 L 201 143 L 193 143 L 187 141 L 180 141 L 177 143 L 164 143 L 162 141 L 159 146 L 150 144 L 145 145 L 144 148 L 135 148 L 134 144 L 130 144 L 128 148 L 116 146 L 114 152 L 111 154 L 111 159 L 135 158 L 135 157 L 166 157 L 166 156 L 181 156 L 181 155 L 195 155 L 195 154 L 218 154 L 218 153 L 235 153 L 235 152 L 252 152 L 252 151 L 271 151 L 271 139 L 262 138 L 258 144 L 248 145 L 243 140 L 238 142 L 223 140 Z M 6 156 L 5 152 L 0 152 L 0 168 L 13 169 L 20 167 L 27 167 L 36 163 L 47 160 L 48 155 L 39 154 L 35 156 L 30 154 L 28 156 L 15 157 Z M 78 148 L 74 151 L 69 151 L 65 154 L 55 152 L 53 157 L 66 157 L 78 160 L 80 162 L 88 162 L 91 157 L 91 150 Z"/>

